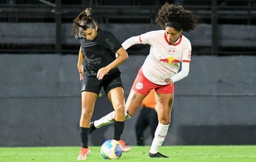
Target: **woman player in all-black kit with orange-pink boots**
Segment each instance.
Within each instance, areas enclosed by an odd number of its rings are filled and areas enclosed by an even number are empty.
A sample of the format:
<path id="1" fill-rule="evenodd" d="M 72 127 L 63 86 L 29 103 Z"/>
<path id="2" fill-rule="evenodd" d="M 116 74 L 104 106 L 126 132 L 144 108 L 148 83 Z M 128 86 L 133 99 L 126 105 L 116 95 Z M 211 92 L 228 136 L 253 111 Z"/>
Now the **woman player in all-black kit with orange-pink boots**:
<path id="1" fill-rule="evenodd" d="M 82 110 L 79 123 L 82 148 L 78 160 L 86 159 L 90 154 L 88 147 L 90 122 L 95 101 L 102 87 L 115 109 L 113 139 L 120 142 L 124 152 L 131 150 L 124 141 L 120 140 L 124 131 L 125 99 L 118 65 L 128 58 L 128 54 L 113 34 L 97 26 L 94 18 L 91 17 L 91 10 L 92 8 L 86 8 L 82 11 L 74 19 L 72 27 L 72 33 L 81 44 L 77 68 L 82 80 Z"/>

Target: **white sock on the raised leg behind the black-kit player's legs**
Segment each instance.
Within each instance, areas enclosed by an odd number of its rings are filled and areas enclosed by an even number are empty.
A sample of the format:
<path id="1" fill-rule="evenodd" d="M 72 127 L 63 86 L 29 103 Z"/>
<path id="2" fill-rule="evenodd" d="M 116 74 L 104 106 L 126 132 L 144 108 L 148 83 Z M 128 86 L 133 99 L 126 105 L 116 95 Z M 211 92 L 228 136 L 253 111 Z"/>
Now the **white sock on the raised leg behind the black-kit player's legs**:
<path id="1" fill-rule="evenodd" d="M 106 126 L 108 124 L 111 124 L 114 122 L 114 119 L 115 119 L 115 111 L 109 113 L 108 115 L 105 115 L 104 117 L 100 118 L 99 120 L 97 121 L 94 121 L 94 126 L 95 128 L 100 128 L 101 126 Z M 130 119 L 131 116 L 128 115 L 126 112 L 125 112 L 125 119 Z"/>

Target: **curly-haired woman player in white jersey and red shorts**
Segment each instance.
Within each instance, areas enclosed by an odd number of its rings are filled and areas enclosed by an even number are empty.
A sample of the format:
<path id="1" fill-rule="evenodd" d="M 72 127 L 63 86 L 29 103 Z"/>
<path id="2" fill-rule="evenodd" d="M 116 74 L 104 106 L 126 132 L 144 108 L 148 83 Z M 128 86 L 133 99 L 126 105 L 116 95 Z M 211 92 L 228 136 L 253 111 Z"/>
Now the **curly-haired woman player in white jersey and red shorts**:
<path id="1" fill-rule="evenodd" d="M 150 45 L 150 52 L 138 71 L 131 92 L 125 103 L 126 119 L 131 118 L 147 94 L 155 89 L 158 126 L 148 153 L 149 158 L 168 158 L 159 152 L 170 126 L 174 83 L 188 76 L 191 61 L 191 43 L 182 31 L 195 29 L 198 17 L 182 6 L 164 4 L 156 22 L 164 30 L 150 31 L 132 36 L 122 43 L 125 50 L 135 44 Z M 180 63 L 182 69 L 179 71 Z M 178 72 L 179 71 L 179 72 Z M 115 113 L 94 121 L 90 133 L 100 126 L 113 122 Z"/>

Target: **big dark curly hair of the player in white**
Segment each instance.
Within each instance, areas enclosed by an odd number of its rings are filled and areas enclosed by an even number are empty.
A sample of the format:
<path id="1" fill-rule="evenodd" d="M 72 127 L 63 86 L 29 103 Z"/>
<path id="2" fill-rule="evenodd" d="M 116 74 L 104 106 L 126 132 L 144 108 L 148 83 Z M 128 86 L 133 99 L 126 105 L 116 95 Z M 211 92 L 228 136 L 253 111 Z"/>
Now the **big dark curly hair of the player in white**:
<path id="1" fill-rule="evenodd" d="M 177 31 L 189 32 L 195 29 L 198 17 L 182 6 L 165 3 L 158 12 L 156 22 L 164 29 L 173 27 Z"/>

